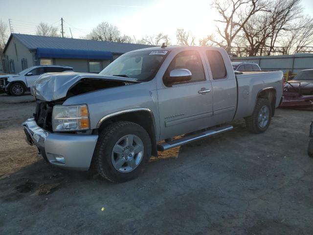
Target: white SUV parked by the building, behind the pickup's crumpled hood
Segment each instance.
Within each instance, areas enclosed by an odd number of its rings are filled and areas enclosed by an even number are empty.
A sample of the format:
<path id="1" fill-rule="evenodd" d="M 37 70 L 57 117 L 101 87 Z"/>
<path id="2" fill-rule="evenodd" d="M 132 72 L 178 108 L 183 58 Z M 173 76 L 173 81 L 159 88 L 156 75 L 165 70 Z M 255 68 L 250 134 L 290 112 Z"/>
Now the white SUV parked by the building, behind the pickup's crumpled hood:
<path id="1" fill-rule="evenodd" d="M 29 91 L 37 78 L 46 72 L 73 71 L 73 68 L 61 65 L 40 65 L 27 68 L 18 74 L 0 75 L 0 91 L 11 95 L 22 95 Z"/>

